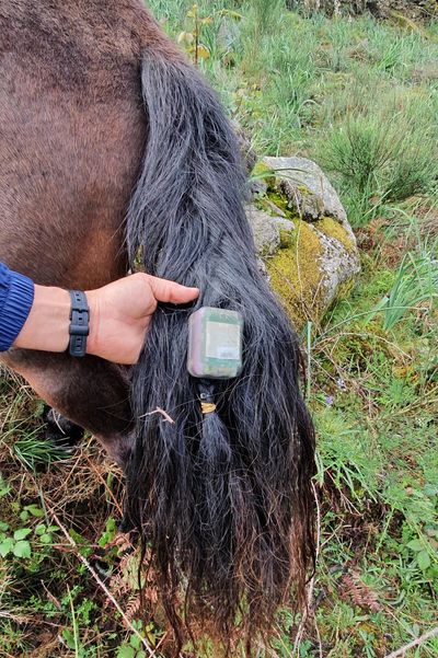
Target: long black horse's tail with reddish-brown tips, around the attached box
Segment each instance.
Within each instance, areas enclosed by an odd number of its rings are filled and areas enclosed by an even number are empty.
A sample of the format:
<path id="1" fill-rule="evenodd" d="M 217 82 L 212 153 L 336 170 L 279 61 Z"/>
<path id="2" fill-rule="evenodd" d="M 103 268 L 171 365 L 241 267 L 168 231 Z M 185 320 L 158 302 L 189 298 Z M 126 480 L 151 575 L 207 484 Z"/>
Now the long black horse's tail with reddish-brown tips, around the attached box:
<path id="1" fill-rule="evenodd" d="M 126 509 L 178 647 L 182 610 L 185 622 L 200 611 L 227 643 L 235 624 L 251 638 L 286 598 L 304 600 L 314 436 L 296 334 L 257 268 L 223 109 L 182 57 L 147 50 L 141 83 L 148 138 L 127 218 L 131 264 L 199 287 L 194 308 L 240 311 L 244 345 L 242 372 L 210 382 L 217 409 L 203 417 L 186 368 L 193 308 L 159 307 L 134 372 Z"/>

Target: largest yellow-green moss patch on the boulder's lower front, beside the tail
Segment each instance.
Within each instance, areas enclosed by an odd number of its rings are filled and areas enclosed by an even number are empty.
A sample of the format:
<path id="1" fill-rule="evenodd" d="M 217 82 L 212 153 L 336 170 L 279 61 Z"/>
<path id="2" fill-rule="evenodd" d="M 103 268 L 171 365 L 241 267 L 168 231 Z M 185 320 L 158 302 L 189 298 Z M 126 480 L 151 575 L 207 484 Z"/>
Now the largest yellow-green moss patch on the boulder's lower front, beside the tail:
<path id="1" fill-rule="evenodd" d="M 324 288 L 319 266 L 322 245 L 313 227 L 295 219 L 295 231 L 289 232 L 290 246 L 279 250 L 266 259 L 270 286 L 284 300 L 286 310 L 297 328 L 306 320 L 318 321 L 323 308 Z"/>

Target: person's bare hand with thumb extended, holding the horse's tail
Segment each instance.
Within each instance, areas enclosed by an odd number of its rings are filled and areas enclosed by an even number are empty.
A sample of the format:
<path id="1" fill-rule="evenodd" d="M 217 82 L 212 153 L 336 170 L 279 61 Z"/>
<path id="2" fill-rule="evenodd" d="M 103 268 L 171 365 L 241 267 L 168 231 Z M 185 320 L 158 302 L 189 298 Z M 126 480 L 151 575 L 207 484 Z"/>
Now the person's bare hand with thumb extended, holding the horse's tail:
<path id="1" fill-rule="evenodd" d="M 197 288 L 142 273 L 88 291 L 87 353 L 117 363 L 136 363 L 158 302 L 186 303 L 198 295 Z"/>

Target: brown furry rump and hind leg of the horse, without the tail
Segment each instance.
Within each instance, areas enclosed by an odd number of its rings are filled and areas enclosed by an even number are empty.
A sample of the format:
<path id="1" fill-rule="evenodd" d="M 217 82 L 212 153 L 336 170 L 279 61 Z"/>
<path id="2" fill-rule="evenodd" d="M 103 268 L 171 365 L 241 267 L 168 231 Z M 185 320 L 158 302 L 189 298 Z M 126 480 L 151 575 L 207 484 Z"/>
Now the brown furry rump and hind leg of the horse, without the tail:
<path id="1" fill-rule="evenodd" d="M 0 259 L 41 285 L 93 289 L 127 273 L 123 226 L 146 139 L 143 44 L 181 57 L 140 2 L 0 4 Z M 124 370 L 12 350 L 4 362 L 120 460 Z"/>

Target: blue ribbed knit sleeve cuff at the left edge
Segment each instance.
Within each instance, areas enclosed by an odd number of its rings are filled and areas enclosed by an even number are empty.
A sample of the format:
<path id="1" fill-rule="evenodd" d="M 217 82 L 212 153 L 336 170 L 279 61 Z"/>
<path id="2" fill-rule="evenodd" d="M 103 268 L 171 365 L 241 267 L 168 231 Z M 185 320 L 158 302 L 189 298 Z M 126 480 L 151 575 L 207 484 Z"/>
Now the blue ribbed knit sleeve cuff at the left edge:
<path id="1" fill-rule="evenodd" d="M 33 301 L 33 281 L 0 263 L 0 351 L 9 349 L 20 334 Z"/>

